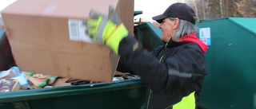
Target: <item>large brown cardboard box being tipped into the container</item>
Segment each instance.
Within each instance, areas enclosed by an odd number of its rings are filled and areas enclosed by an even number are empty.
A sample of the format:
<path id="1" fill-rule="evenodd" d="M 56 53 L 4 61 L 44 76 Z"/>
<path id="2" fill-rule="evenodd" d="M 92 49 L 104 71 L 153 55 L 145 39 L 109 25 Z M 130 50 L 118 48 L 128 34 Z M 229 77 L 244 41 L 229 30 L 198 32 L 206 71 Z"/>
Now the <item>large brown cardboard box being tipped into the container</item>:
<path id="1" fill-rule="evenodd" d="M 70 40 L 70 19 L 116 7 L 133 33 L 133 0 L 18 0 L 2 10 L 14 60 L 22 71 L 111 82 L 118 56 L 106 45 Z"/>

